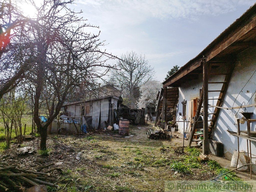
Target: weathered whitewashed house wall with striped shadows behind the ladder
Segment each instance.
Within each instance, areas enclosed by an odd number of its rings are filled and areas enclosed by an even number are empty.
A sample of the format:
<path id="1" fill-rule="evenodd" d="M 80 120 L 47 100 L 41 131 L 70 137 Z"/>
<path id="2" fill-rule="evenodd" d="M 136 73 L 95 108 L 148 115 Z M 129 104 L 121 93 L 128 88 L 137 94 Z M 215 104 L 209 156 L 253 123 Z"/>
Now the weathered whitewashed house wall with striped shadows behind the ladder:
<path id="1" fill-rule="evenodd" d="M 236 61 L 235 69 L 233 71 L 232 77 L 230 79 L 230 84 L 227 89 L 224 102 L 222 106 L 224 107 L 232 107 L 233 103 L 234 106 L 240 106 L 243 102 L 245 104 L 252 104 L 256 102 L 255 94 L 253 93 L 256 91 L 256 73 L 251 78 L 251 80 L 247 83 L 246 87 L 244 87 L 243 91 L 239 94 L 240 90 L 252 76 L 253 72 L 256 70 L 256 49 L 251 48 L 240 55 L 238 55 L 238 60 Z M 229 69 L 228 69 L 229 70 Z M 213 70 L 213 72 L 219 72 L 220 69 L 217 68 Z M 209 77 L 209 81 L 223 81 L 224 76 L 215 76 Z M 209 84 L 209 90 L 220 90 L 222 84 Z M 177 107 L 177 120 L 182 121 L 182 116 L 179 116 L 178 113 L 182 113 L 182 101 L 187 100 L 187 120 L 191 116 L 191 103 L 190 100 L 194 97 L 199 97 L 199 90 L 202 87 L 202 77 L 199 77 L 198 80 L 193 80 L 185 83 L 183 86 L 179 88 L 179 102 Z M 236 99 L 237 95 L 239 94 L 238 98 Z M 253 97 L 252 97 L 253 95 Z M 219 92 L 209 92 L 209 99 L 210 98 L 218 98 Z M 249 101 L 249 99 L 252 99 Z M 235 101 L 236 99 L 236 101 Z M 248 103 L 249 101 L 249 103 Z M 209 104 L 216 105 L 217 100 L 209 100 Z M 244 104 L 244 103 L 243 103 Z M 214 108 L 209 108 L 208 113 L 212 113 Z M 237 118 L 242 118 L 242 115 L 239 113 L 244 109 L 240 110 L 233 110 L 233 113 L 236 114 Z M 252 118 L 256 118 L 256 111 L 255 107 L 250 107 L 246 109 L 246 112 L 253 112 Z M 233 151 L 237 150 L 237 137 L 230 135 L 227 132 L 227 129 L 231 131 L 237 132 L 237 124 L 236 124 L 236 117 L 233 115 L 231 110 L 221 109 L 220 114 L 217 120 L 216 128 L 213 134 L 213 139 L 221 142 L 224 144 L 224 153 L 225 157 L 231 159 Z M 212 115 L 209 115 L 209 119 L 211 119 Z M 183 132 L 183 122 L 178 123 L 179 125 L 179 132 Z M 186 126 L 186 124 L 185 124 Z M 189 126 L 189 125 L 188 125 Z M 246 130 L 246 124 L 242 124 L 241 130 Z M 186 128 L 185 128 L 186 129 Z M 251 124 L 251 130 L 255 131 L 256 125 L 255 123 Z M 247 142 L 244 139 L 239 140 L 240 142 L 240 150 L 247 151 Z M 252 154 L 256 154 L 256 143 L 251 142 L 252 146 Z M 255 156 L 253 156 L 255 157 Z M 255 159 L 253 159 L 255 163 Z"/>

